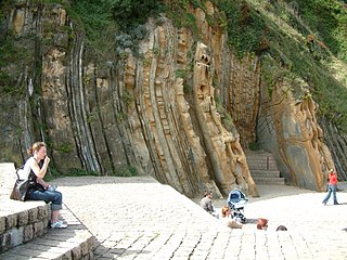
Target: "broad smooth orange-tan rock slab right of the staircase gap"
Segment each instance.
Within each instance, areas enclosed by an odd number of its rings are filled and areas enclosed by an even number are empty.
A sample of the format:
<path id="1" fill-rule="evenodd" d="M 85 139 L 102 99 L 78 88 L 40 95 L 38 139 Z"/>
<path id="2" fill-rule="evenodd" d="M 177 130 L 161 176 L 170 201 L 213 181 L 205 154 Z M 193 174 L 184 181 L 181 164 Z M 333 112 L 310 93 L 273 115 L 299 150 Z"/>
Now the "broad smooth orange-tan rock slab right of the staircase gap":
<path id="1" fill-rule="evenodd" d="M 331 153 L 323 142 L 323 131 L 316 118 L 317 104 L 308 92 L 298 99 L 291 86 L 278 82 L 272 99 L 261 91 L 258 140 L 271 151 L 283 177 L 292 184 L 325 191 L 326 173 L 334 169 Z"/>

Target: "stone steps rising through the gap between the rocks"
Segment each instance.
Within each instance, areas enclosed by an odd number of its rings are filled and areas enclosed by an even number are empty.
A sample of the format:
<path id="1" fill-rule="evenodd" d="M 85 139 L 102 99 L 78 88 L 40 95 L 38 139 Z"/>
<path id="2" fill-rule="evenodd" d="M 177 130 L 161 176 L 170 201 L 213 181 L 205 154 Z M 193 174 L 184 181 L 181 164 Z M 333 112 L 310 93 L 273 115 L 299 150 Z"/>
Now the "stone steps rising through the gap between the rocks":
<path id="1" fill-rule="evenodd" d="M 265 151 L 245 151 L 248 168 L 256 184 L 284 185 L 272 154 Z"/>

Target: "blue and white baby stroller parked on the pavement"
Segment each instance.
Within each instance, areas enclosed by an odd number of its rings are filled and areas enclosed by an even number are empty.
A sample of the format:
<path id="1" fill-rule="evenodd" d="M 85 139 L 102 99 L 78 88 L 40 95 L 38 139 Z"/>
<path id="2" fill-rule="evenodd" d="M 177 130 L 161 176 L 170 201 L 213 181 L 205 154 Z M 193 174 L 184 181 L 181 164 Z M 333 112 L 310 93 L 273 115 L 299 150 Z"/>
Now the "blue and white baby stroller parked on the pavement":
<path id="1" fill-rule="evenodd" d="M 245 194 L 241 192 L 239 188 L 234 188 L 229 193 L 227 203 L 233 211 L 231 214 L 232 219 L 241 223 L 246 222 L 246 218 L 243 213 L 244 213 L 245 204 L 247 202 L 248 199 L 246 198 Z"/>

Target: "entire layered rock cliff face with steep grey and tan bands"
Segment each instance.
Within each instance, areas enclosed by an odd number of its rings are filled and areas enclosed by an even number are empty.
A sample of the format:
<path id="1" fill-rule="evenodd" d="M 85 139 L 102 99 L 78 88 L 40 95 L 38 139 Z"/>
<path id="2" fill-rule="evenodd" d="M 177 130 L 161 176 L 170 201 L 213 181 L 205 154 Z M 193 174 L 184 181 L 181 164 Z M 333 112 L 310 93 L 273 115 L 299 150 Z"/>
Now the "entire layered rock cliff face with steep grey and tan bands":
<path id="1" fill-rule="evenodd" d="M 24 91 L 0 98 L 7 122 L 0 142 L 8 147 L 1 160 L 20 164 L 25 150 L 43 140 L 54 167 L 67 174 L 136 169 L 188 196 L 204 190 L 222 196 L 233 187 L 258 196 L 243 152 L 258 134 L 288 181 L 321 190 L 322 170 L 333 162 L 313 101 L 296 104 L 280 94 L 283 86 L 272 100 L 260 95 L 257 57 L 236 58 L 221 29 L 208 26 L 202 10 L 191 11 L 201 42 L 167 18 L 150 21 L 140 56 L 97 62 L 62 6 L 16 5 L 5 31 L 13 29 L 33 58 L 15 70 Z"/>

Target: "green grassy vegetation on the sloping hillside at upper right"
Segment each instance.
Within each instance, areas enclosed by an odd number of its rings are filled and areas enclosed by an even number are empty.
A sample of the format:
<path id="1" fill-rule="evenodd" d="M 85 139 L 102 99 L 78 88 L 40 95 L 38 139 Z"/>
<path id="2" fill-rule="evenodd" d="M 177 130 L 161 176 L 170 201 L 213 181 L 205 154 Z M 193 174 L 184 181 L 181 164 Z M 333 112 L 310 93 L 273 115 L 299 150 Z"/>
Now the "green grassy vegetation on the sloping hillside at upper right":
<path id="1" fill-rule="evenodd" d="M 214 2 L 222 13 L 220 17 L 224 17 L 220 24 L 226 24 L 230 46 L 241 56 L 245 53 L 260 56 L 269 94 L 275 80 L 286 78 L 293 82 L 297 98 L 303 99 L 305 92 L 296 82 L 304 82 L 320 104 L 319 114 L 347 130 L 346 3 L 338 0 Z"/>

